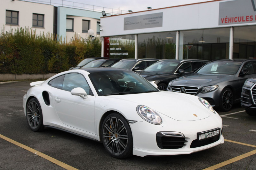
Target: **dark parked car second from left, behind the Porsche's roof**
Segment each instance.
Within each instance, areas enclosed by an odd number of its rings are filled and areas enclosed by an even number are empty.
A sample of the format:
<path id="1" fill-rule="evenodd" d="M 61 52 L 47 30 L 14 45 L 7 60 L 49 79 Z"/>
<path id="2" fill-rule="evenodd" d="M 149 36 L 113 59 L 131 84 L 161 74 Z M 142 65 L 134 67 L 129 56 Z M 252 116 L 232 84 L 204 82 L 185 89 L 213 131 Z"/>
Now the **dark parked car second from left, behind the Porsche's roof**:
<path id="1" fill-rule="evenodd" d="M 114 63 L 121 60 L 120 58 L 101 58 L 98 60 L 93 60 L 87 64 L 85 64 L 81 69 L 83 68 L 91 68 L 91 67 L 110 67 Z"/>

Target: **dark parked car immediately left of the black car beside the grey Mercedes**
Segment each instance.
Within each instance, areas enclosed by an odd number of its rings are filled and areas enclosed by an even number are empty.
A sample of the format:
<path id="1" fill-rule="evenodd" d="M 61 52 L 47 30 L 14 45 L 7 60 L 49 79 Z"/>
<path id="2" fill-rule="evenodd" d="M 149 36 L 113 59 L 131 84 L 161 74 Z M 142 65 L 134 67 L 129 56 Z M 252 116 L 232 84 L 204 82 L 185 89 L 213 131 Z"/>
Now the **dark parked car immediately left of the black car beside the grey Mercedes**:
<path id="1" fill-rule="evenodd" d="M 150 66 L 153 63 L 156 63 L 160 59 L 155 58 L 127 58 L 122 59 L 119 62 L 113 64 L 111 67 L 120 68 L 120 69 L 128 69 L 132 71 L 141 71 Z"/>

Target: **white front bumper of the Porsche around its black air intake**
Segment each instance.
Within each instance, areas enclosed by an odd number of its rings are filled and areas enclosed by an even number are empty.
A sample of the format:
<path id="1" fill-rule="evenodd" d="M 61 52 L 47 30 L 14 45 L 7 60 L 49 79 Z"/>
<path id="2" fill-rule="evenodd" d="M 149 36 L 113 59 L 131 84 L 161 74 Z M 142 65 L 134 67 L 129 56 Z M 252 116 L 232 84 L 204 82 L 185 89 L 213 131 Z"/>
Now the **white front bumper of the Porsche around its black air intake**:
<path id="1" fill-rule="evenodd" d="M 130 124 L 133 136 L 133 155 L 145 156 L 163 156 L 163 155 L 179 155 L 190 154 L 202 151 L 224 143 L 224 137 L 220 133 L 216 142 L 206 144 L 204 146 L 191 148 L 193 141 L 197 140 L 197 133 L 210 129 L 220 128 L 222 132 L 222 120 L 218 114 L 211 115 L 206 119 L 198 121 L 176 121 L 166 123 L 169 117 L 162 117 L 161 125 L 153 125 L 146 121 Z M 164 123 L 165 122 L 165 123 Z M 161 149 L 157 145 L 156 134 L 158 132 L 179 132 L 185 137 L 184 146 L 177 149 Z M 144 134 L 143 136 L 141 134 Z"/>

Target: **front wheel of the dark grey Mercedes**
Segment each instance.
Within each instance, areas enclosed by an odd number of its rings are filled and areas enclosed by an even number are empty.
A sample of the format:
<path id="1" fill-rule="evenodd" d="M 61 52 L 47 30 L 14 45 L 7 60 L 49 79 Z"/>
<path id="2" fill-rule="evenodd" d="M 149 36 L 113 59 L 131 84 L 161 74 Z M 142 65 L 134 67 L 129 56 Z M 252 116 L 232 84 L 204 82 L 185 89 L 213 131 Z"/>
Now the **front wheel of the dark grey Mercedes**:
<path id="1" fill-rule="evenodd" d="M 234 103 L 234 95 L 230 88 L 225 88 L 220 94 L 220 110 L 229 111 Z"/>

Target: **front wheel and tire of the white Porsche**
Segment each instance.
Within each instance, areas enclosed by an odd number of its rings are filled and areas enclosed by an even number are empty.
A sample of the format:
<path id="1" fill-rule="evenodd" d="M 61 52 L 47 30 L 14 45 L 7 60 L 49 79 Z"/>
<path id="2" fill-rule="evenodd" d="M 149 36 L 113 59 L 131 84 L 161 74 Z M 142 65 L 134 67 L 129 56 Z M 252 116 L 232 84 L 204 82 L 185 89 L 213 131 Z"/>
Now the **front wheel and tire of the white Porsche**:
<path id="1" fill-rule="evenodd" d="M 124 159 L 132 156 L 132 130 L 122 115 L 112 113 L 104 119 L 101 137 L 105 149 L 112 157 Z"/>

